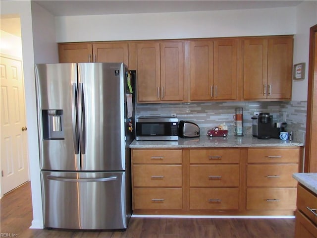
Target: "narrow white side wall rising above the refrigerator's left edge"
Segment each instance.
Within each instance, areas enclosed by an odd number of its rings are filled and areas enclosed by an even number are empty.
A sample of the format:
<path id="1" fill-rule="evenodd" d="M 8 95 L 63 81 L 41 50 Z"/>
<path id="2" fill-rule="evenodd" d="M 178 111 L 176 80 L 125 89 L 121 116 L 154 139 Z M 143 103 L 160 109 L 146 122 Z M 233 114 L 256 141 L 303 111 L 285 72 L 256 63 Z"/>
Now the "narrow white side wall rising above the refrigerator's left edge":
<path id="1" fill-rule="evenodd" d="M 31 2 L 35 63 L 58 63 L 55 41 L 55 17 L 42 6 Z"/>

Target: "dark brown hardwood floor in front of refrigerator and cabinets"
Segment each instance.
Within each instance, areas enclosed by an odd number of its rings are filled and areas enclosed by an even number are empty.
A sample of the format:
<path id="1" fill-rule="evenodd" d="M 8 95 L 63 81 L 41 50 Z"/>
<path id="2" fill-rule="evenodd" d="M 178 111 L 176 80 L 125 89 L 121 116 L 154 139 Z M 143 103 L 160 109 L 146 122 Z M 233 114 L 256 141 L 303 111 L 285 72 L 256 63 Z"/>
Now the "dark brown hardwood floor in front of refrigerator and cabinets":
<path id="1" fill-rule="evenodd" d="M 295 219 L 132 218 L 126 231 L 29 229 L 30 182 L 1 200 L 1 237 L 19 238 L 293 238 Z"/>

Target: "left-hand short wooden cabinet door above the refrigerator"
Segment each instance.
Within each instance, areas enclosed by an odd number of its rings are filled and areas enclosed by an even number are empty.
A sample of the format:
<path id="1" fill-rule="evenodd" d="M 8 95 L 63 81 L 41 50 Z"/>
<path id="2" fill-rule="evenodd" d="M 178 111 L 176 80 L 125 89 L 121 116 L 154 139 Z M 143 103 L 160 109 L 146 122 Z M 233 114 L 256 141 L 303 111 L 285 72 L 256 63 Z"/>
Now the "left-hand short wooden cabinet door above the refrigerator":
<path id="1" fill-rule="evenodd" d="M 92 44 L 58 44 L 60 63 L 92 62 Z"/>

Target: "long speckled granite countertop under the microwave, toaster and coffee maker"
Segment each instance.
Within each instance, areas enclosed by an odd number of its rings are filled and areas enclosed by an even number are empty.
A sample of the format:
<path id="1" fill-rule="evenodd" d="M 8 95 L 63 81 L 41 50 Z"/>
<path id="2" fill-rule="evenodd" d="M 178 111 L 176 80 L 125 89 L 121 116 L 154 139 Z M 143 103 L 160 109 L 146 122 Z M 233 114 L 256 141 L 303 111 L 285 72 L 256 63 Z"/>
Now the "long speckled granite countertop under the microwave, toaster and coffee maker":
<path id="1" fill-rule="evenodd" d="M 269 147 L 269 146 L 304 146 L 301 142 L 283 141 L 280 139 L 258 139 L 252 135 L 227 137 L 209 137 L 201 135 L 197 138 L 178 138 L 174 141 L 137 141 L 130 148 L 198 148 L 198 147 Z"/>

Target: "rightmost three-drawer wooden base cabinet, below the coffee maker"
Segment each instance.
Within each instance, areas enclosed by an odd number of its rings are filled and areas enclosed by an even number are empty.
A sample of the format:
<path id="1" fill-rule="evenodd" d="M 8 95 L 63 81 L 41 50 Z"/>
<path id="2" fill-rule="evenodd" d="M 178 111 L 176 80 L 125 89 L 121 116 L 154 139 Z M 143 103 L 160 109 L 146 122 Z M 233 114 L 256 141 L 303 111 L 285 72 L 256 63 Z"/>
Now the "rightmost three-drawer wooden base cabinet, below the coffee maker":
<path id="1" fill-rule="evenodd" d="M 298 149 L 249 148 L 247 210 L 296 209 Z"/>

